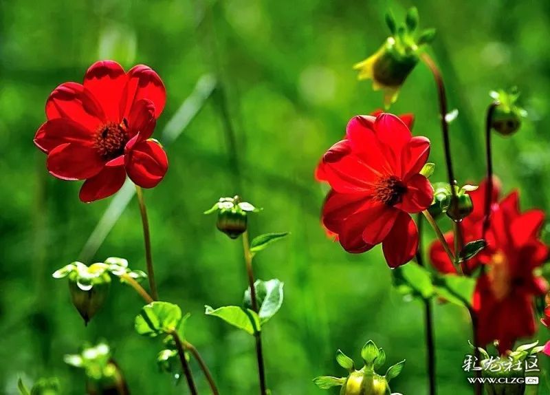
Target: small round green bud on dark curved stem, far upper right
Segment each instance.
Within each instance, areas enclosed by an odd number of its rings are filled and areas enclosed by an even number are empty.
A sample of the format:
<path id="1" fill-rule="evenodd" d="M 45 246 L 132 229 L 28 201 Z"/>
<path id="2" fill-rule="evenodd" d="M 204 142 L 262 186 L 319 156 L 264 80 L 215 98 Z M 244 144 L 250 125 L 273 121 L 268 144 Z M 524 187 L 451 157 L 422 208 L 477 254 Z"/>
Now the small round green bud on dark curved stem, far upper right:
<path id="1" fill-rule="evenodd" d="M 527 111 L 516 105 L 520 94 L 516 88 L 505 90 L 492 91 L 490 95 L 496 103 L 491 118 L 491 127 L 503 136 L 510 136 L 521 126 L 522 118 L 527 116 Z"/>

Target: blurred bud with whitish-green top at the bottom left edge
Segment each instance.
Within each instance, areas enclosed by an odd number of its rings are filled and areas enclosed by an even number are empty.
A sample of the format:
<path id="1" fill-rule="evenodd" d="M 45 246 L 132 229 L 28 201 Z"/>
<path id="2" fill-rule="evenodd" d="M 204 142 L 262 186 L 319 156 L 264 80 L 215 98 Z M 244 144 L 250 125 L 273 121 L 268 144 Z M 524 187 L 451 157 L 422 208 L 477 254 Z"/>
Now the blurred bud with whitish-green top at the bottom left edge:
<path id="1" fill-rule="evenodd" d="M 124 375 L 112 358 L 107 343 L 87 345 L 80 354 L 65 355 L 64 360 L 85 371 L 88 395 L 129 395 Z"/>

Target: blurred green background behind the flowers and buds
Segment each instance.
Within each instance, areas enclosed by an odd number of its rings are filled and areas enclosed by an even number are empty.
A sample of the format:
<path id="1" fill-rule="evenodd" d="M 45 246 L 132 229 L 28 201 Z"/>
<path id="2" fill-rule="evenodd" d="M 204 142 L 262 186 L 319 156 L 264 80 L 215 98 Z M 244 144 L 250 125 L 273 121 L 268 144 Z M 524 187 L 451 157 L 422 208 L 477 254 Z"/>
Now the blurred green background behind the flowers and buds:
<path id="1" fill-rule="evenodd" d="M 65 393 L 82 394 L 83 372 L 65 365 L 63 355 L 102 338 L 133 394 L 187 391 L 158 372 L 160 343 L 133 331 L 142 301 L 130 288 L 113 283 L 107 306 L 85 328 L 65 281 L 51 276 L 79 257 L 113 198 L 80 203 L 79 183 L 48 175 L 32 138 L 52 89 L 82 81 L 100 58 L 126 69 L 145 63 L 166 84 L 155 136 L 167 142 L 170 169 L 145 193 L 157 284 L 162 299 L 192 313 L 188 338 L 221 393 L 257 392 L 252 339 L 203 315 L 204 304 L 241 303 L 247 286 L 241 244 L 202 214 L 234 193 L 264 208 L 250 220 L 252 235 L 292 232 L 256 259 L 257 277 L 285 281 L 283 308 L 263 335 L 273 394 L 322 394 L 311 379 L 343 374 L 334 352 L 341 348 L 358 360 L 368 339 L 386 350 L 389 363 L 407 359 L 393 391 L 426 393 L 421 304 L 391 288 L 381 248 L 353 256 L 325 237 L 319 221 L 325 189 L 313 179 L 320 155 L 347 120 L 382 105 L 382 94 L 370 82 L 358 83 L 351 66 L 386 37 L 388 6 L 401 19 L 413 5 L 421 27 L 437 28 L 430 51 L 450 109 L 459 109 L 451 125 L 459 180 L 483 176 L 487 93 L 518 85 L 529 120 L 513 138 L 494 138 L 495 170 L 506 191 L 520 189 L 523 208 L 546 208 L 548 1 L 0 0 L 0 393 L 16 394 L 19 377 L 31 384 L 56 375 Z M 415 133 L 432 140 L 432 180 L 444 180 L 436 92 L 426 67 L 415 69 L 392 111 L 415 113 Z M 431 238 L 427 231 L 424 244 Z M 109 256 L 145 266 L 135 200 L 90 259 Z M 451 305 L 435 306 L 434 314 L 439 394 L 470 394 L 461 370 L 470 352 L 467 314 Z M 541 385 L 540 393 L 547 388 Z"/>

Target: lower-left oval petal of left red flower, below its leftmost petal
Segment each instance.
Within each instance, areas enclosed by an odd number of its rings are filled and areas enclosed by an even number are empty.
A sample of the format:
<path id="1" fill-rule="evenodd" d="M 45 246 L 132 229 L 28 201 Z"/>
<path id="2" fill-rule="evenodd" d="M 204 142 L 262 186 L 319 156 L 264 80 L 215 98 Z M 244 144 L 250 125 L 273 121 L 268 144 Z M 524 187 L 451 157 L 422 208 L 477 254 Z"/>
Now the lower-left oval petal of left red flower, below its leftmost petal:
<path id="1" fill-rule="evenodd" d="M 102 169 L 104 163 L 95 149 L 65 143 L 47 156 L 47 169 L 63 180 L 85 180 Z"/>

